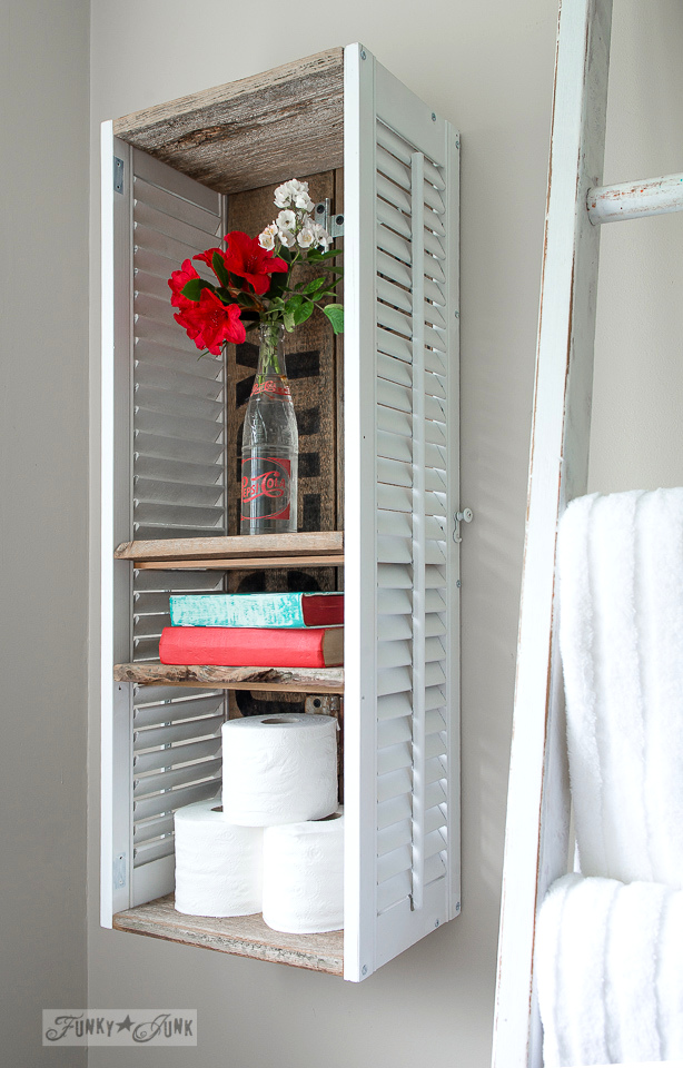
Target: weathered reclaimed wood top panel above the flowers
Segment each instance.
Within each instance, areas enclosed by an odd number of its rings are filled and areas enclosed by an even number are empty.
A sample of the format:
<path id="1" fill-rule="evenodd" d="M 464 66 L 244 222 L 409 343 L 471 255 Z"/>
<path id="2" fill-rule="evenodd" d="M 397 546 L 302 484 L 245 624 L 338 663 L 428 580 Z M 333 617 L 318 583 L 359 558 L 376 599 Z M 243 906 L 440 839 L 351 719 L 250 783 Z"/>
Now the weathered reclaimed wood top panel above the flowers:
<path id="1" fill-rule="evenodd" d="M 123 116 L 113 132 L 217 192 L 343 165 L 344 49 Z"/>

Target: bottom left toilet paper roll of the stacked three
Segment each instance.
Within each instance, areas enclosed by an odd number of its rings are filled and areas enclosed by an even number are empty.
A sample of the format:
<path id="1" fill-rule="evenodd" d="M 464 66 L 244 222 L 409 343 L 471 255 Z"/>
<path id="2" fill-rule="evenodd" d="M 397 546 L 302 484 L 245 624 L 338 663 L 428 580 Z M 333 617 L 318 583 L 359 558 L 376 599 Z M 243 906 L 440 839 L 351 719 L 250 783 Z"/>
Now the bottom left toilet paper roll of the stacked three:
<path id="1" fill-rule="evenodd" d="M 264 832 L 224 819 L 220 801 L 178 809 L 176 910 L 189 916 L 251 916 L 261 910 Z"/>

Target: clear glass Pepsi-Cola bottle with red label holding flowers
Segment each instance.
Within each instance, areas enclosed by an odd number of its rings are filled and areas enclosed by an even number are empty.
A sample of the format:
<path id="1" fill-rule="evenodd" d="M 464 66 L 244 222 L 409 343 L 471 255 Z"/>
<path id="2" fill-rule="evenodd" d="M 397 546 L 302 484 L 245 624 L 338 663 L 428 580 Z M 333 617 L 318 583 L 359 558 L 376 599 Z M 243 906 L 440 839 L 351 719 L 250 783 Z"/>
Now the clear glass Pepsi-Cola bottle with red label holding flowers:
<path id="1" fill-rule="evenodd" d="M 242 534 L 297 528 L 299 434 L 285 367 L 285 328 L 263 324 L 241 439 Z"/>

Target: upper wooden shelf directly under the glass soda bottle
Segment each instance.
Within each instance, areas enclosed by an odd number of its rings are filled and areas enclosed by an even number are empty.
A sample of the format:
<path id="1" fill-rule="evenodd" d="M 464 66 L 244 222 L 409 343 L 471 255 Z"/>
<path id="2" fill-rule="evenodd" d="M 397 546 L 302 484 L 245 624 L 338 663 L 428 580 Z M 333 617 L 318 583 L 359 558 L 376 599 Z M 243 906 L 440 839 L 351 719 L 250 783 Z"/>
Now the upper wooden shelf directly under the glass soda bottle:
<path id="1" fill-rule="evenodd" d="M 231 537 L 167 537 L 123 542 L 116 560 L 180 561 L 239 560 L 246 567 L 259 557 L 339 556 L 344 553 L 342 531 L 311 531 L 299 534 L 253 534 Z M 328 563 L 328 561 L 326 561 Z"/>

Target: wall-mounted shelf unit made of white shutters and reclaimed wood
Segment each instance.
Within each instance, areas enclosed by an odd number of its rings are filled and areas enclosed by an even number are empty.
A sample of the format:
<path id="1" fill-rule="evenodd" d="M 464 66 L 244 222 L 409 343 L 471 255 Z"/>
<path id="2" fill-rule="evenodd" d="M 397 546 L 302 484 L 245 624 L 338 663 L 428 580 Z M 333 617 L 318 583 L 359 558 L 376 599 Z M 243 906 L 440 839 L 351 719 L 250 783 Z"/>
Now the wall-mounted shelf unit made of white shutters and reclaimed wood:
<path id="1" fill-rule="evenodd" d="M 458 156 L 360 44 L 103 123 L 103 926 L 358 981 L 459 912 Z M 346 328 L 288 338 L 300 531 L 249 538 L 256 349 L 198 359 L 167 279 L 295 177 L 344 212 Z M 259 589 L 343 589 L 344 668 L 159 663 L 169 593 Z M 306 694 L 343 694 L 344 932 L 181 916 L 174 812 L 218 793 L 225 718 Z"/>

